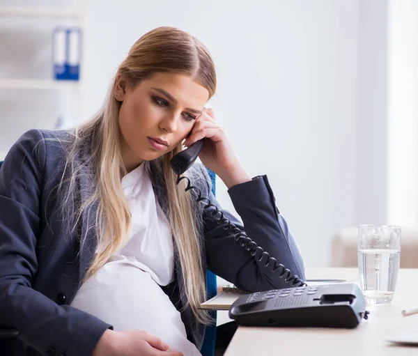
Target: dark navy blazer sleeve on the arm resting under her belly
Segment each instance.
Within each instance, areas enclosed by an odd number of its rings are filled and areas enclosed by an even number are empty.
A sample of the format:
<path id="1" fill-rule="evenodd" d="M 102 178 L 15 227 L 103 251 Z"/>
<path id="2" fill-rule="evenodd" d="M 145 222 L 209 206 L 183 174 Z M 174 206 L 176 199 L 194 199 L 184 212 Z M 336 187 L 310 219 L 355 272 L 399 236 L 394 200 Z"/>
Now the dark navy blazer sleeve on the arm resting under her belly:
<path id="1" fill-rule="evenodd" d="M 31 288 L 44 173 L 45 140 L 30 130 L 0 168 L 0 328 L 19 330 L 18 337 L 42 355 L 87 356 L 111 325 Z"/>

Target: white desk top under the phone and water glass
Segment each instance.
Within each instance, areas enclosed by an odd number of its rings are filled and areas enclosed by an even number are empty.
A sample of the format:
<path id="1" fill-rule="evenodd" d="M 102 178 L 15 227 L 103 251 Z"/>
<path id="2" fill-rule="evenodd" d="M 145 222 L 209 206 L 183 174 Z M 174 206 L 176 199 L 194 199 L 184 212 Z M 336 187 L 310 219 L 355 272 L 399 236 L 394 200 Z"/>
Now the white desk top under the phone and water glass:
<path id="1" fill-rule="evenodd" d="M 307 268 L 307 279 L 342 278 L 358 282 L 357 268 Z M 418 269 L 401 269 L 392 304 L 366 305 L 369 320 L 355 329 L 238 327 L 225 356 L 338 355 L 409 356 L 418 347 L 396 346 L 387 336 L 418 327 L 418 314 L 402 316 L 402 309 L 418 304 Z"/>

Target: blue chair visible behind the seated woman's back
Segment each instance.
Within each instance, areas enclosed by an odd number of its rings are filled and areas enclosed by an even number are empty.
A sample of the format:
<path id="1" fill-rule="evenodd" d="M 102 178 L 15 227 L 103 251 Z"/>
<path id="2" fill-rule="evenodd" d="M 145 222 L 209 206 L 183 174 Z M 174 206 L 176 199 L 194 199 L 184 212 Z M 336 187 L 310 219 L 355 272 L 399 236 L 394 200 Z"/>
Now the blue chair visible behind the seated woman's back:
<path id="1" fill-rule="evenodd" d="M 3 161 L 0 161 L 0 167 L 3 164 Z M 215 173 L 208 169 L 210 180 L 212 180 L 212 194 L 216 194 L 216 176 Z M 206 291 L 208 298 L 215 297 L 217 294 L 217 279 L 216 274 L 206 271 Z M 203 339 L 203 344 L 201 347 L 202 356 L 213 356 L 215 354 L 215 340 L 216 340 L 216 311 L 210 311 L 210 316 L 214 320 L 213 324 L 208 325 L 205 330 L 205 338 Z"/>

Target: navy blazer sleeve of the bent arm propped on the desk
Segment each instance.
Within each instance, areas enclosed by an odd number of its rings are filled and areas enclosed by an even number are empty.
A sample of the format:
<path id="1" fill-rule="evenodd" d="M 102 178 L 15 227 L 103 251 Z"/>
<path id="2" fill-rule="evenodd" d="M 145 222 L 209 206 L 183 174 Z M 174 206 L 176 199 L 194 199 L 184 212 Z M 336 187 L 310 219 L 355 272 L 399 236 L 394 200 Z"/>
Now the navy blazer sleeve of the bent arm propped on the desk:
<path id="1" fill-rule="evenodd" d="M 302 256 L 286 220 L 279 214 L 267 176 L 235 185 L 228 193 L 242 223 L 231 212 L 222 209 L 212 193 L 209 199 L 241 232 L 274 257 L 277 263 L 291 270 L 292 276 L 295 274 L 304 280 Z M 203 210 L 203 229 L 208 268 L 212 272 L 249 292 L 290 286 L 285 278 L 280 277 L 280 269 L 272 272 L 272 262 L 265 265 L 266 257 L 261 262 L 255 258 L 260 256 L 260 252 L 251 256 L 240 243 L 233 243 L 231 231 L 225 230 L 225 224 L 219 224 L 212 217 L 211 210 Z"/>

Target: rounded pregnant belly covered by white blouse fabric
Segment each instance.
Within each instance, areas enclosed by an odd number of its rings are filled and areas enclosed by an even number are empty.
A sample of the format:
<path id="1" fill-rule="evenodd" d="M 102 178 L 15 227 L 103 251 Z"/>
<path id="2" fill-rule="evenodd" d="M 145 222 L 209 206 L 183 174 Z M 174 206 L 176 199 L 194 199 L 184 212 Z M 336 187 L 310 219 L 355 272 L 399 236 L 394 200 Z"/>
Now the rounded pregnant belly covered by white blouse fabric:
<path id="1" fill-rule="evenodd" d="M 106 263 L 77 291 L 72 307 L 86 311 L 114 330 L 145 330 L 171 350 L 201 355 L 187 340 L 180 313 L 141 265 L 124 258 Z"/>

